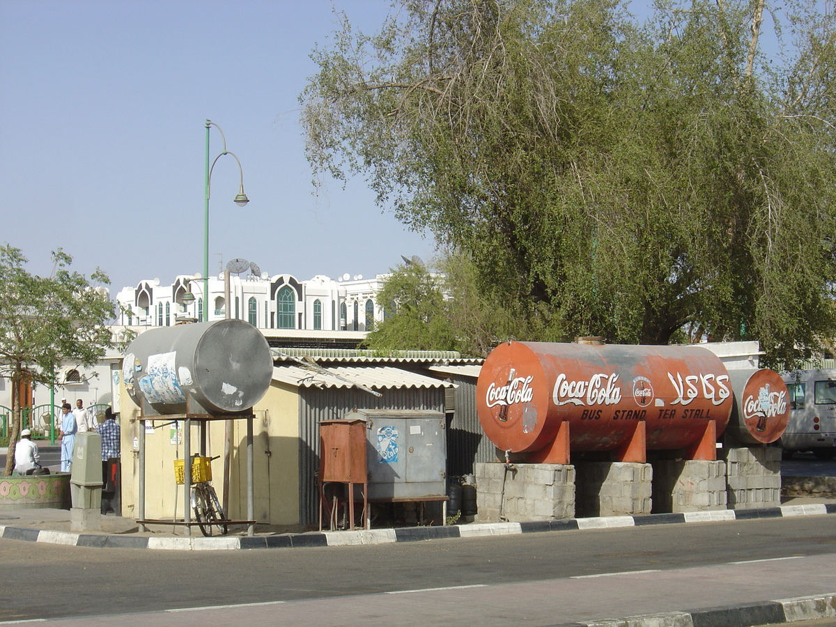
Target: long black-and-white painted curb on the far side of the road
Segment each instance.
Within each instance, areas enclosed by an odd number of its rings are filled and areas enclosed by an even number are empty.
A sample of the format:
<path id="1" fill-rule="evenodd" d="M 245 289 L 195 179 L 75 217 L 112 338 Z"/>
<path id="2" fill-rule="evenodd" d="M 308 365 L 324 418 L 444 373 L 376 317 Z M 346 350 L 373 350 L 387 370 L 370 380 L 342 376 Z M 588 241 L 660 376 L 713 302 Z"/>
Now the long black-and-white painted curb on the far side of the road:
<path id="1" fill-rule="evenodd" d="M 360 544 L 388 544 L 397 542 L 421 542 L 448 538 L 478 538 L 506 536 L 517 533 L 545 533 L 552 531 L 577 531 L 619 527 L 642 527 L 680 523 L 711 523 L 719 521 L 752 520 L 753 518 L 788 518 L 798 516 L 822 516 L 836 513 L 836 503 L 811 505 L 782 505 L 763 509 L 716 510 L 711 512 L 686 512 L 642 514 L 639 516 L 612 516 L 568 518 L 562 520 L 532 521 L 526 523 L 470 523 L 446 527 L 407 527 L 396 529 L 354 529 L 311 533 L 281 533 L 269 536 L 220 536 L 203 537 L 145 537 L 130 534 L 68 533 L 45 529 L 32 529 L 0 525 L 0 538 L 63 544 L 65 546 L 93 548 L 154 548 L 167 551 L 211 551 L 254 548 L 293 547 L 344 547 Z"/>

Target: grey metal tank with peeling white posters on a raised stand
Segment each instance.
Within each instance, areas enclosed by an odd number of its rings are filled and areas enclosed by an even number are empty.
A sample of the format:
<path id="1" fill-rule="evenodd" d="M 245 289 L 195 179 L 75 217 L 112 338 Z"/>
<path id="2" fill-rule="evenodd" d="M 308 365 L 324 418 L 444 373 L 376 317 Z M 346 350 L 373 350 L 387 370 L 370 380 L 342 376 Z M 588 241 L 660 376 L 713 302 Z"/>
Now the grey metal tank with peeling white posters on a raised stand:
<path id="1" fill-rule="evenodd" d="M 130 343 L 122 364 L 125 388 L 146 415 L 245 411 L 272 377 L 267 340 L 237 319 L 149 329 Z"/>

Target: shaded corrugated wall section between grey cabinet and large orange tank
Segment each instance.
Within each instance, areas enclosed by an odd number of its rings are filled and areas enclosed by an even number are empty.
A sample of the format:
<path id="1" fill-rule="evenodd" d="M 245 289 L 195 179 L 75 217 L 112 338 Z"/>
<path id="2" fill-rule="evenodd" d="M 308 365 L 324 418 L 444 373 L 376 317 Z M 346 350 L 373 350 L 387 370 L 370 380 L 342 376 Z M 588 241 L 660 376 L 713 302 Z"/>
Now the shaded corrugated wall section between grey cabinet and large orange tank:
<path id="1" fill-rule="evenodd" d="M 473 474 L 476 463 L 495 461 L 496 446 L 488 440 L 476 408 L 476 382 L 473 377 L 451 376 L 456 388 L 456 405 L 447 434 L 447 475 Z M 449 409 L 449 408 L 448 408 Z"/>

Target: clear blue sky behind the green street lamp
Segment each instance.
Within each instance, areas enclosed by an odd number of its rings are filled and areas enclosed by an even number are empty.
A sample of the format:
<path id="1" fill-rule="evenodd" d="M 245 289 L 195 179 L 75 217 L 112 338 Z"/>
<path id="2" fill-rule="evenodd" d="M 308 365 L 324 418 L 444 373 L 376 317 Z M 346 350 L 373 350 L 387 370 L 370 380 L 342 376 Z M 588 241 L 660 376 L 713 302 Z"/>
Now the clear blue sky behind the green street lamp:
<path id="1" fill-rule="evenodd" d="M 271 275 L 372 276 L 431 237 L 381 212 L 364 181 L 314 192 L 297 96 L 333 9 L 372 31 L 388 0 L 3 0 L 0 242 L 33 273 L 63 247 L 111 293 L 203 266 L 206 118 L 241 160 L 212 173 L 210 272 L 233 257 Z M 212 158 L 222 150 L 212 129 Z"/>

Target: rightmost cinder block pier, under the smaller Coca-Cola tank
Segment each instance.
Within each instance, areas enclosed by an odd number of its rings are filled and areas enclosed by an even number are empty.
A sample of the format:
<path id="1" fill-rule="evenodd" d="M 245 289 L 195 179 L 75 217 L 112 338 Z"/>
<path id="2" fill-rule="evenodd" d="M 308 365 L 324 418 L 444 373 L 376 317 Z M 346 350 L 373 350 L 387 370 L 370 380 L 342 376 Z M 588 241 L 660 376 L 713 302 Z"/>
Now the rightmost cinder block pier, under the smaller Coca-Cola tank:
<path id="1" fill-rule="evenodd" d="M 774 446 L 723 448 L 729 509 L 781 505 L 781 449 Z"/>

